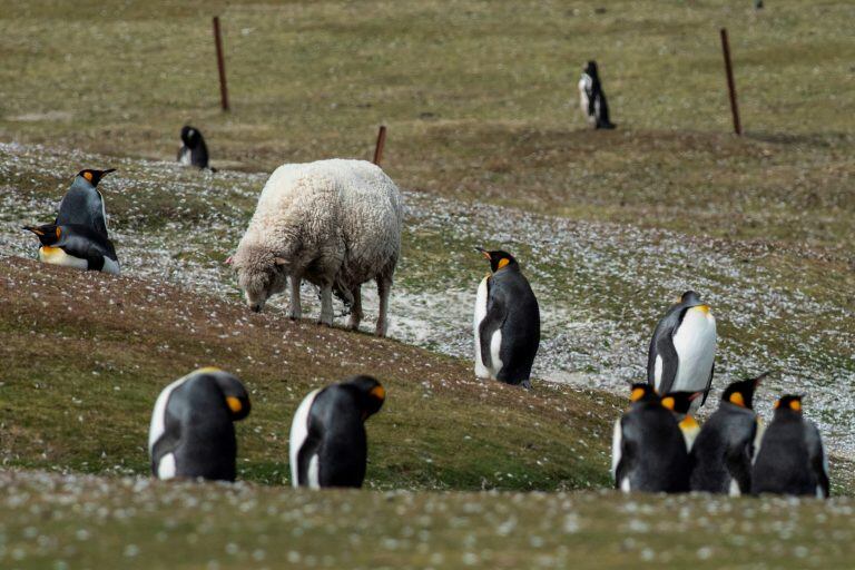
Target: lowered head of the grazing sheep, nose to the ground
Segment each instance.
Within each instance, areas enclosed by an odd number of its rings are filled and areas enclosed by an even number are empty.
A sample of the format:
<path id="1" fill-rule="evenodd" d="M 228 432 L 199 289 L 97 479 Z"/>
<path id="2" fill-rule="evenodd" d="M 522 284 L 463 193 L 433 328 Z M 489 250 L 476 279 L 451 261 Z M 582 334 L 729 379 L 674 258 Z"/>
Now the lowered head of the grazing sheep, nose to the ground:
<path id="1" fill-rule="evenodd" d="M 238 248 L 230 258 L 247 306 L 259 313 L 267 299 L 285 291 L 287 261 L 263 247 Z"/>

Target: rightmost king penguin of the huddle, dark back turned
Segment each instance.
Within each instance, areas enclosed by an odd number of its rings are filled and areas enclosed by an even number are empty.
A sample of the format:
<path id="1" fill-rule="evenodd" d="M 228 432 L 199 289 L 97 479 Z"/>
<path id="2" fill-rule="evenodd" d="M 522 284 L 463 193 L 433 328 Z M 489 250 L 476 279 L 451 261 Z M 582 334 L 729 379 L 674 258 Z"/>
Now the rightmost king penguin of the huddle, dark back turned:
<path id="1" fill-rule="evenodd" d="M 751 471 L 751 493 L 828 497 L 828 460 L 816 424 L 802 416 L 802 396 L 775 402 Z"/>

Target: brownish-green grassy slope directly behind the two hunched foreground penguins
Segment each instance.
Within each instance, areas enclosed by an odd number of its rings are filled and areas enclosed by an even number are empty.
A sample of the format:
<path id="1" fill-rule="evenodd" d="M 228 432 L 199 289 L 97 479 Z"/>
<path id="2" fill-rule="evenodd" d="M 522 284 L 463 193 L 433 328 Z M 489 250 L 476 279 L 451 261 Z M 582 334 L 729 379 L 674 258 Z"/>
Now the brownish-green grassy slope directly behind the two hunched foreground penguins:
<path id="1" fill-rule="evenodd" d="M 33 271 L 38 268 L 38 271 Z M 291 417 L 314 387 L 374 374 L 368 483 L 390 489 L 578 489 L 608 476 L 617 400 L 475 382 L 468 363 L 158 284 L 0 261 L 6 465 L 148 472 L 158 392 L 217 365 L 250 390 L 240 476 L 287 483 Z M 520 400 L 525 397 L 524 403 Z"/>

